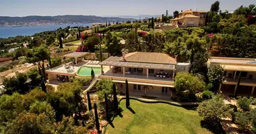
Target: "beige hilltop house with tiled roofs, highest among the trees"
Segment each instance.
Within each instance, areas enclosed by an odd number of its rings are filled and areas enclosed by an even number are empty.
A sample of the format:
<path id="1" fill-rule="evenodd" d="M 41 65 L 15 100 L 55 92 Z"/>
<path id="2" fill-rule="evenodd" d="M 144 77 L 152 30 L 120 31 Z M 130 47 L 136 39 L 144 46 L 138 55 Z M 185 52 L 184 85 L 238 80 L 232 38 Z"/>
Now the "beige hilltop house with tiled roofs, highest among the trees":
<path id="1" fill-rule="evenodd" d="M 179 17 L 170 19 L 172 25 L 178 25 L 181 28 L 198 27 L 205 25 L 206 11 L 181 11 Z"/>

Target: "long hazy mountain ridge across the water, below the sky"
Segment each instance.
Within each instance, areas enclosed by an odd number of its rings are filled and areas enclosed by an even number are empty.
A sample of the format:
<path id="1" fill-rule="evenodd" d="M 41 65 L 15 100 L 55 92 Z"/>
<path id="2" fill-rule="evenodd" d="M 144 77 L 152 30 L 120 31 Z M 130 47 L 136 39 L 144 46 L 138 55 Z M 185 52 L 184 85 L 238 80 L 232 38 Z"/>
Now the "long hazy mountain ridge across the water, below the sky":
<path id="1" fill-rule="evenodd" d="M 102 23 L 110 21 L 135 21 L 133 18 L 99 17 L 94 15 L 58 15 L 58 16 L 0 16 L 0 27 L 20 27 L 34 25 L 57 25 L 62 23 Z"/>

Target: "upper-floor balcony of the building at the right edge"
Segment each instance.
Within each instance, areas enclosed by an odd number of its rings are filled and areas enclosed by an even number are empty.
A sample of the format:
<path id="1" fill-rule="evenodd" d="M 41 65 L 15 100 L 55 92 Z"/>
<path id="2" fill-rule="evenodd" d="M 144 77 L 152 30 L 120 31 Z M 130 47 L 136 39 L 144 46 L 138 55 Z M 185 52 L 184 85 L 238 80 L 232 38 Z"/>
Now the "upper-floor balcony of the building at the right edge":
<path id="1" fill-rule="evenodd" d="M 226 80 L 224 80 L 223 84 L 237 84 L 238 78 L 234 77 L 226 77 Z M 241 78 L 240 85 L 242 86 L 256 86 L 256 79 L 250 79 L 250 78 Z"/>

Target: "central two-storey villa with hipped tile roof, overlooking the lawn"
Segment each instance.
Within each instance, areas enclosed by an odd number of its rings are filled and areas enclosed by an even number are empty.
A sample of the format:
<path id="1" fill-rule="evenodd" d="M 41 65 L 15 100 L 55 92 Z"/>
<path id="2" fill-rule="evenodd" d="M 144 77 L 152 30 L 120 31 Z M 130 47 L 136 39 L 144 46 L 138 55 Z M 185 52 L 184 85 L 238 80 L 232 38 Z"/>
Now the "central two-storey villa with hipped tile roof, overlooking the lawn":
<path id="1" fill-rule="evenodd" d="M 110 70 L 99 78 L 117 82 L 119 91 L 125 92 L 125 80 L 128 80 L 131 94 L 164 98 L 170 98 L 177 70 L 188 71 L 190 66 L 186 63 L 179 64 L 175 58 L 156 52 L 123 53 L 123 56 L 111 56 L 100 62 L 100 65 L 110 66 Z M 148 87 L 144 90 L 146 86 Z"/>

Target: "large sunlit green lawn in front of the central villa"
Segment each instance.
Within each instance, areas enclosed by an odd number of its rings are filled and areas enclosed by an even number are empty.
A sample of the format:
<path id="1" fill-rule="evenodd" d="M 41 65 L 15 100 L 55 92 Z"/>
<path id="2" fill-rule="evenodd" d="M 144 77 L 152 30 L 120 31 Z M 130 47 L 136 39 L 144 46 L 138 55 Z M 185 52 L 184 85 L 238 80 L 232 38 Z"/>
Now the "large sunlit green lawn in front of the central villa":
<path id="1" fill-rule="evenodd" d="M 131 113 L 125 107 L 125 100 L 121 101 L 123 117 L 117 116 L 113 125 L 106 127 L 107 134 L 126 133 L 203 133 L 210 131 L 200 126 L 201 117 L 197 111 L 187 110 L 182 107 L 174 107 L 166 104 L 148 104 L 137 100 L 130 100 Z"/>

